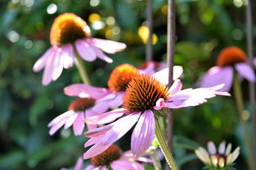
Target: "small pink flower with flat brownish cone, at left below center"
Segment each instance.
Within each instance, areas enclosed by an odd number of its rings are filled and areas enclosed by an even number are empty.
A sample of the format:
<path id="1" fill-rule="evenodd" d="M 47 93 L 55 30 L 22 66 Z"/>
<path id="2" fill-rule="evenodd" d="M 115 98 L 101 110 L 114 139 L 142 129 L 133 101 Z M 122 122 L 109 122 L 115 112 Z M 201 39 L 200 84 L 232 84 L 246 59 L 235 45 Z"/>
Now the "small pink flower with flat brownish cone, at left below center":
<path id="1" fill-rule="evenodd" d="M 53 135 L 63 125 L 65 129 L 73 125 L 74 135 L 81 135 L 85 124 L 83 119 L 97 115 L 92 111 L 92 105 L 94 104 L 95 99 L 92 97 L 76 99 L 70 104 L 68 111 L 48 123 L 48 127 L 50 128 L 49 134 Z M 96 125 L 88 125 L 88 130 L 96 127 Z"/>

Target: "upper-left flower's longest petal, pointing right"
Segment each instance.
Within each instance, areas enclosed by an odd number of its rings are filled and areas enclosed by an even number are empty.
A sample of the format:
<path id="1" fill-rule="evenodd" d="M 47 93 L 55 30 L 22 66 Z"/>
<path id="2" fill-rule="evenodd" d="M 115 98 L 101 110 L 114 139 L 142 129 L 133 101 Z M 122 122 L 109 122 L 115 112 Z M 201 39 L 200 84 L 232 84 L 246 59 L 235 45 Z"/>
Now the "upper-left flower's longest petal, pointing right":
<path id="1" fill-rule="evenodd" d="M 106 51 L 110 54 L 114 54 L 118 51 L 123 51 L 126 48 L 126 44 L 122 42 L 115 42 L 99 38 L 90 38 L 90 40 L 90 43 L 92 43 L 93 46 L 98 47 L 102 51 Z"/>

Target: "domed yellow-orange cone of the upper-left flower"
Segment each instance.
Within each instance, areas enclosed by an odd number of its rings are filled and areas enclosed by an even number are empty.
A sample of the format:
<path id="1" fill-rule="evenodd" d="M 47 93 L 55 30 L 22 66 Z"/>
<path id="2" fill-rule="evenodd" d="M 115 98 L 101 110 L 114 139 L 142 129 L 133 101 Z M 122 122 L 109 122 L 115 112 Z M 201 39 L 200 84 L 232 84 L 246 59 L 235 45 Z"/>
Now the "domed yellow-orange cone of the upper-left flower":
<path id="1" fill-rule="evenodd" d="M 73 13 L 57 16 L 52 24 L 50 33 L 52 46 L 61 46 L 88 37 L 91 37 L 90 28 L 83 19 Z"/>

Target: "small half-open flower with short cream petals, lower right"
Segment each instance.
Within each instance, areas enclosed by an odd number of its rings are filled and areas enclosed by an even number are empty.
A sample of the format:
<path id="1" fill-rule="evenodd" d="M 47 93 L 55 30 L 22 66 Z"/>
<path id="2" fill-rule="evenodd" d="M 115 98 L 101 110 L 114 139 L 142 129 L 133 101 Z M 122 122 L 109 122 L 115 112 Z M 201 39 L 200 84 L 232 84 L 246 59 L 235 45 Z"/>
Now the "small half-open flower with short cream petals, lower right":
<path id="1" fill-rule="evenodd" d="M 225 141 L 218 146 L 218 150 L 213 141 L 209 141 L 207 146 L 208 150 L 199 147 L 195 150 L 195 154 L 210 169 L 230 168 L 240 154 L 240 147 L 236 147 L 231 153 L 231 143 L 226 148 Z"/>

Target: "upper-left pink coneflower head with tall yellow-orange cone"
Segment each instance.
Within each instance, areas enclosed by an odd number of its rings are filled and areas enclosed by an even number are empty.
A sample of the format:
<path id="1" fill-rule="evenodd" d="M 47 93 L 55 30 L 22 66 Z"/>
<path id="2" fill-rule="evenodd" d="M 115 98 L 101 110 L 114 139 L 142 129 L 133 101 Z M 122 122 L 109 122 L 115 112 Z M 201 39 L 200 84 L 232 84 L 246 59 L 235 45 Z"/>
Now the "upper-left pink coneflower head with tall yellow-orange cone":
<path id="1" fill-rule="evenodd" d="M 113 54 L 126 47 L 121 42 L 91 38 L 91 30 L 87 23 L 73 13 L 56 17 L 51 29 L 50 41 L 52 47 L 36 61 L 33 67 L 35 72 L 44 68 L 43 85 L 59 78 L 63 68 L 69 69 L 74 65 L 74 47 L 83 60 L 93 61 L 98 57 L 109 63 L 112 60 L 102 51 Z"/>

